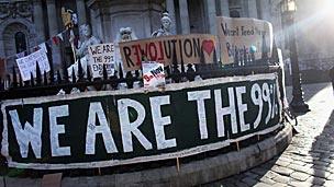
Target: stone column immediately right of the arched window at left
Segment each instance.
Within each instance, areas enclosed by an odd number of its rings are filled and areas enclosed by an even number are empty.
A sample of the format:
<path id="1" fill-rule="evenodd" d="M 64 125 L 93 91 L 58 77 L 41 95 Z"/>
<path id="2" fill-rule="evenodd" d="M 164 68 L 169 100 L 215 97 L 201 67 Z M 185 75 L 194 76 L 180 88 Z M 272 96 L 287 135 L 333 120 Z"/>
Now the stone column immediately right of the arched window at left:
<path id="1" fill-rule="evenodd" d="M 34 11 L 33 11 L 34 12 L 34 24 L 35 24 L 36 34 L 37 34 L 36 42 L 40 44 L 45 40 L 42 0 L 34 0 L 33 5 L 34 5 Z"/>

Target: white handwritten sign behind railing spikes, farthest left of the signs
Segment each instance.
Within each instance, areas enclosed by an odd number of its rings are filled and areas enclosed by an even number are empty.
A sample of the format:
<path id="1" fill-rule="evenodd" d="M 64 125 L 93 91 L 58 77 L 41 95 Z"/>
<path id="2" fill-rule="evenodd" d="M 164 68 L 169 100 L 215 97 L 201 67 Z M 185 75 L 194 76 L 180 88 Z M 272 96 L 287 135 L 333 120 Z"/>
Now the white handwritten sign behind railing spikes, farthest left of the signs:
<path id="1" fill-rule="evenodd" d="M 47 56 L 43 49 L 40 49 L 26 57 L 16 59 L 18 67 L 23 81 L 29 81 L 31 72 L 36 78 L 36 62 L 38 62 L 41 73 L 49 71 L 49 63 Z"/>

